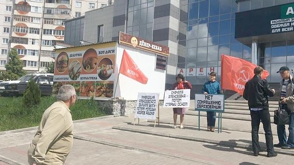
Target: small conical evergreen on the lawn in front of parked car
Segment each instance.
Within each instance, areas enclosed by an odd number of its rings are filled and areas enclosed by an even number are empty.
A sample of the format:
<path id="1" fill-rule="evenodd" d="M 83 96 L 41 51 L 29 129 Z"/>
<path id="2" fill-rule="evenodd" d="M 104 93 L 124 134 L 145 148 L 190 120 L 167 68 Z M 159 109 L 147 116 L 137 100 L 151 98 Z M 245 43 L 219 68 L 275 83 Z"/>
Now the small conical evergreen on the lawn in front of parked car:
<path id="1" fill-rule="evenodd" d="M 33 105 L 38 105 L 40 102 L 41 91 L 39 85 L 31 78 L 24 92 L 23 105 L 25 107 L 32 107 Z"/>

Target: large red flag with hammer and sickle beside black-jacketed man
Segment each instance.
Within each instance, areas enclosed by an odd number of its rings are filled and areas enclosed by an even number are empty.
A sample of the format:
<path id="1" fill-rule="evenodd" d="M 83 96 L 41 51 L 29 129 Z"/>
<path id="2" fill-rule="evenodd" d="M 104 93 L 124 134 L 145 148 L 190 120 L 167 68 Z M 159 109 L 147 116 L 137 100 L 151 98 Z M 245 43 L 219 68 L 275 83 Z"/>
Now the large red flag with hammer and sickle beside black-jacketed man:
<path id="1" fill-rule="evenodd" d="M 243 95 L 245 84 L 254 76 L 254 68 L 257 67 L 240 58 L 221 55 L 221 88 L 236 91 Z M 268 71 L 263 71 L 262 78 L 267 78 Z"/>

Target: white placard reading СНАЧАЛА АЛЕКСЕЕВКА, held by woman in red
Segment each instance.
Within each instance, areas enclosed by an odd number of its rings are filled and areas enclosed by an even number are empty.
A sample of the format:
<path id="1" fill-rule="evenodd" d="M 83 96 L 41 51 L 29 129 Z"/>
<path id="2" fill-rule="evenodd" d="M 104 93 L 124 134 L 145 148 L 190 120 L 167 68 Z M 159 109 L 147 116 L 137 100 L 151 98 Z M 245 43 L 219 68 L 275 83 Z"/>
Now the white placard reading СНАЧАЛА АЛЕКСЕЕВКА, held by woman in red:
<path id="1" fill-rule="evenodd" d="M 190 89 L 166 91 L 164 94 L 163 107 L 169 107 L 169 108 L 190 107 Z"/>

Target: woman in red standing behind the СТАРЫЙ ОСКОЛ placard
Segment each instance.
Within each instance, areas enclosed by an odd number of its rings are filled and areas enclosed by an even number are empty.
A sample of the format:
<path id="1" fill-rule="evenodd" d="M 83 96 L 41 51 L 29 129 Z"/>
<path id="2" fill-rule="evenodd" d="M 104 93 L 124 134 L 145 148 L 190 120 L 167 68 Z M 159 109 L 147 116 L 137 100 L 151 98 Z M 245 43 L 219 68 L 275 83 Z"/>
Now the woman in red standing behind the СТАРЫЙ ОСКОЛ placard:
<path id="1" fill-rule="evenodd" d="M 172 85 L 171 90 L 182 90 L 182 89 L 192 89 L 192 85 L 189 81 L 185 80 L 182 74 L 178 74 L 175 77 L 176 83 Z M 184 116 L 187 108 L 172 108 L 173 110 L 173 128 L 176 128 L 177 115 L 180 115 L 180 129 L 183 129 Z"/>

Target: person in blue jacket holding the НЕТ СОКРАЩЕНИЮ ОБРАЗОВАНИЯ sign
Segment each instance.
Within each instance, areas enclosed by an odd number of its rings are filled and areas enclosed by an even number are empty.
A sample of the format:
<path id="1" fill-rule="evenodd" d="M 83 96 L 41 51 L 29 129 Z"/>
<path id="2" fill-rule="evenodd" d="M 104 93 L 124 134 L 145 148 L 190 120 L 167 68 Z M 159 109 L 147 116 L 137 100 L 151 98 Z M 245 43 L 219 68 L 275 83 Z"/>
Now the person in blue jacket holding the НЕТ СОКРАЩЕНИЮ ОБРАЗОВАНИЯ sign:
<path id="1" fill-rule="evenodd" d="M 207 81 L 203 88 L 202 88 L 202 94 L 221 94 L 221 85 L 219 82 L 216 81 L 216 75 L 217 73 L 215 71 L 212 71 L 209 74 L 210 80 Z M 214 132 L 215 125 L 216 125 L 216 112 L 213 111 L 207 111 L 207 131 Z"/>

